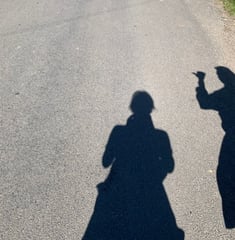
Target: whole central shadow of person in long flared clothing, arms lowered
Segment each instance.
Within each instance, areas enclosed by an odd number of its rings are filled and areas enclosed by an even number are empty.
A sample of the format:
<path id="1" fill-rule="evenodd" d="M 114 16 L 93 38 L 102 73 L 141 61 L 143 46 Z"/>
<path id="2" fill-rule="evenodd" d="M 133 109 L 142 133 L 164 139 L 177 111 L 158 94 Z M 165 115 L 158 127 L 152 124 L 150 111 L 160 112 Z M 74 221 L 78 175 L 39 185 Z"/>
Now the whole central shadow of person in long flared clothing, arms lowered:
<path id="1" fill-rule="evenodd" d="M 103 155 L 111 166 L 83 240 L 183 240 L 163 180 L 174 159 L 166 132 L 154 128 L 151 96 L 134 93 L 125 126 L 115 126 Z"/>

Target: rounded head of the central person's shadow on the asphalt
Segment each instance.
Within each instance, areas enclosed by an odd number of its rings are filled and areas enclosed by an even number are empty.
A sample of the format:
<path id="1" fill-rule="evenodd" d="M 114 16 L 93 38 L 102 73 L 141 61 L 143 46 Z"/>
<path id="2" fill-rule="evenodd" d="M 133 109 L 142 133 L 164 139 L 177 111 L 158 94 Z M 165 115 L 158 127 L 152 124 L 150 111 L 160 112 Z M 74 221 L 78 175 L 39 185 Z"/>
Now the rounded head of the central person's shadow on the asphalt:
<path id="1" fill-rule="evenodd" d="M 154 109 L 154 101 L 146 91 L 136 91 L 130 103 L 130 109 L 135 115 L 149 115 Z"/>

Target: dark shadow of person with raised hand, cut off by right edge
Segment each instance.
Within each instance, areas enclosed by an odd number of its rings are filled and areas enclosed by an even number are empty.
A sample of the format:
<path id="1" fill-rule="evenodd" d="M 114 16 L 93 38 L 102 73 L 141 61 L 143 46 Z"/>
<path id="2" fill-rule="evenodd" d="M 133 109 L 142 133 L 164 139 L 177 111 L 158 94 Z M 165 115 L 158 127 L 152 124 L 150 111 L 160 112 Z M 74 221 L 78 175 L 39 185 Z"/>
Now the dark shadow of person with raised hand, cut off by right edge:
<path id="1" fill-rule="evenodd" d="M 224 87 L 208 94 L 204 72 L 194 73 L 198 77 L 197 100 L 202 109 L 219 113 L 225 136 L 220 149 L 217 167 L 217 183 L 222 198 L 226 228 L 235 228 L 235 74 L 228 68 L 215 68 Z"/>

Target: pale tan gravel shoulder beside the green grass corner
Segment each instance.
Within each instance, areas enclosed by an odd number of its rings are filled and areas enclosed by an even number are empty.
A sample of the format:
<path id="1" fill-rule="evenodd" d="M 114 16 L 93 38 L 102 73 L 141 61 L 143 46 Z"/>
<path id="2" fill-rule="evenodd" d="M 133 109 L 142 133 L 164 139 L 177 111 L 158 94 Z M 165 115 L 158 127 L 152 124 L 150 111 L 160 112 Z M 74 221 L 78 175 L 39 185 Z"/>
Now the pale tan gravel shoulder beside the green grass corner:
<path id="1" fill-rule="evenodd" d="M 192 15 L 207 32 L 219 55 L 219 64 L 235 70 L 235 16 L 230 16 L 222 1 L 186 1 Z"/>

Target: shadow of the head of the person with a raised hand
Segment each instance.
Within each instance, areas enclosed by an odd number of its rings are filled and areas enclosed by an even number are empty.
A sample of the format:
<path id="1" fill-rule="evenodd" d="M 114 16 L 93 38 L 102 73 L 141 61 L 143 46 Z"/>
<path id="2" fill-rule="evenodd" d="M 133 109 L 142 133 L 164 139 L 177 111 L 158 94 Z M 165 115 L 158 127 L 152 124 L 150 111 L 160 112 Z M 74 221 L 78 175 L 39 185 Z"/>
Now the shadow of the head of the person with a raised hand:
<path id="1" fill-rule="evenodd" d="M 215 69 L 218 78 L 225 86 L 235 86 L 235 74 L 229 68 L 217 66 Z"/>

